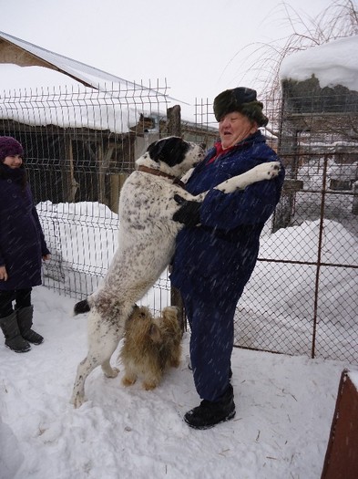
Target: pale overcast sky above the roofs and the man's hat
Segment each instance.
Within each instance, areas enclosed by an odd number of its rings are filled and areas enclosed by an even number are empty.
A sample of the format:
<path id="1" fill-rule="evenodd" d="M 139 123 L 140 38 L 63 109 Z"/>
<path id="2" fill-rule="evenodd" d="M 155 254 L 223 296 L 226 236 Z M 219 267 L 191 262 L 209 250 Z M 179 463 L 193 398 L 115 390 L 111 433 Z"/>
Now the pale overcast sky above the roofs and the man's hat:
<path id="1" fill-rule="evenodd" d="M 285 4 L 315 17 L 332 0 Z M 130 81 L 166 80 L 169 95 L 189 103 L 243 83 L 257 88 L 252 76 L 242 80 L 249 51 L 242 48 L 292 33 L 276 0 L 0 0 L 0 7 L 1 31 Z"/>

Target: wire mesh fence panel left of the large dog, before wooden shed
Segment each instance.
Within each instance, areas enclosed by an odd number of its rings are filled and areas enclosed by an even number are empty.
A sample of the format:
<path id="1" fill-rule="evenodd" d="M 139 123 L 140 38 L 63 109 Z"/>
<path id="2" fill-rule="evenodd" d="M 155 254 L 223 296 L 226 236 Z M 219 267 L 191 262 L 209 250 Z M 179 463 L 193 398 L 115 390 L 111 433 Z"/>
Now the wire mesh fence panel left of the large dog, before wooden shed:
<path id="1" fill-rule="evenodd" d="M 120 187 L 159 138 L 168 103 L 167 86 L 159 83 L 0 95 L 0 134 L 24 146 L 52 254 L 45 286 L 78 299 L 96 290 L 117 247 Z"/>

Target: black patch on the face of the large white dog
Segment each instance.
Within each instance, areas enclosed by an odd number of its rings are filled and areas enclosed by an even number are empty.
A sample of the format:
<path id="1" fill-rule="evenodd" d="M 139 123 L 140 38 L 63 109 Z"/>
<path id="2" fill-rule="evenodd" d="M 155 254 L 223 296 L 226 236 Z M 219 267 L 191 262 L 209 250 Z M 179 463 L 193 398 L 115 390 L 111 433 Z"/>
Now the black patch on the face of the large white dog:
<path id="1" fill-rule="evenodd" d="M 154 161 L 164 161 L 169 166 L 175 166 L 183 161 L 189 150 L 189 143 L 179 137 L 170 137 L 151 143 L 148 153 Z"/>

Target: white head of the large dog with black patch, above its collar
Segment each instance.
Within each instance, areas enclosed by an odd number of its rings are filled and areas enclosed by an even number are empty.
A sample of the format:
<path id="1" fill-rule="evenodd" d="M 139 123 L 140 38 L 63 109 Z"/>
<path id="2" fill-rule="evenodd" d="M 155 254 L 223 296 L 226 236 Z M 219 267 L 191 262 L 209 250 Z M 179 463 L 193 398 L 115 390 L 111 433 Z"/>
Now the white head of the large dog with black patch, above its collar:
<path id="1" fill-rule="evenodd" d="M 203 158 L 201 145 L 170 136 L 150 143 L 148 150 L 136 162 L 179 178 Z"/>

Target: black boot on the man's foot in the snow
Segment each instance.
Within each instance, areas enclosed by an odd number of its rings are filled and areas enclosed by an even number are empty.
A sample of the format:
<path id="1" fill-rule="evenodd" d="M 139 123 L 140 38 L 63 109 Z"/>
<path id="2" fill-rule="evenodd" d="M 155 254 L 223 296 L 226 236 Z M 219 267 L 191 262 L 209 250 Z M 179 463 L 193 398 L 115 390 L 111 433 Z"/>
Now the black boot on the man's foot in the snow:
<path id="1" fill-rule="evenodd" d="M 209 429 L 220 422 L 229 421 L 235 413 L 234 394 L 230 384 L 220 401 L 201 401 L 197 408 L 185 414 L 184 421 L 194 429 Z"/>

